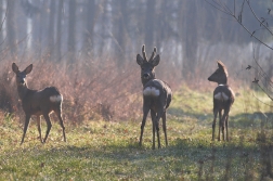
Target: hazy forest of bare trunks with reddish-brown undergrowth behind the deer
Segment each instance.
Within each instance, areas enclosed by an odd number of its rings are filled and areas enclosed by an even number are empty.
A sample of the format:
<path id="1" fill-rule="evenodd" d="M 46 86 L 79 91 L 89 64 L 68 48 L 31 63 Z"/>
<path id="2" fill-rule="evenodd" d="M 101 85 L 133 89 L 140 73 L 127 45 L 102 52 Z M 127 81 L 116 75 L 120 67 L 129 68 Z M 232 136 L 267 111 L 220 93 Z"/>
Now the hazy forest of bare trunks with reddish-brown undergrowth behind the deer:
<path id="1" fill-rule="evenodd" d="M 242 2 L 236 1 L 237 12 Z M 251 7 L 270 21 L 270 0 Z M 140 117 L 142 86 L 135 56 L 142 44 L 148 55 L 157 47 L 161 61 L 156 75 L 174 90 L 186 85 L 211 91 L 214 83 L 207 77 L 217 60 L 227 66 L 235 91 L 251 85 L 258 73 L 246 67 L 257 60 L 269 77 L 273 74 L 272 51 L 205 0 L 0 0 L 0 108 L 9 113 L 22 113 L 12 62 L 21 69 L 32 63 L 29 87 L 56 86 L 64 94 L 66 117 L 75 121 L 86 116 Z M 242 21 L 272 43 L 249 9 Z"/>

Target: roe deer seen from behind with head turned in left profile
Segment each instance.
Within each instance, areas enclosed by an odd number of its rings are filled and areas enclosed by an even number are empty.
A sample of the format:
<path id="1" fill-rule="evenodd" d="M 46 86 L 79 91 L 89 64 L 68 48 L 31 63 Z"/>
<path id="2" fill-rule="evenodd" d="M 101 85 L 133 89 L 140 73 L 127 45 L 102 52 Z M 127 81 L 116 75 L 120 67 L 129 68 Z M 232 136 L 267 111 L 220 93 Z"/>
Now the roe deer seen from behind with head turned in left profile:
<path id="1" fill-rule="evenodd" d="M 218 61 L 218 69 L 208 78 L 209 81 L 214 81 L 218 87 L 213 91 L 213 114 L 214 119 L 212 122 L 212 141 L 214 140 L 216 119 L 219 113 L 219 133 L 218 141 L 220 141 L 220 133 L 222 129 L 222 138 L 224 137 L 224 127 L 226 130 L 226 141 L 229 141 L 229 113 L 232 104 L 234 103 L 235 95 L 230 86 L 227 86 L 227 69 L 221 61 Z M 222 115 L 222 109 L 224 114 Z"/>

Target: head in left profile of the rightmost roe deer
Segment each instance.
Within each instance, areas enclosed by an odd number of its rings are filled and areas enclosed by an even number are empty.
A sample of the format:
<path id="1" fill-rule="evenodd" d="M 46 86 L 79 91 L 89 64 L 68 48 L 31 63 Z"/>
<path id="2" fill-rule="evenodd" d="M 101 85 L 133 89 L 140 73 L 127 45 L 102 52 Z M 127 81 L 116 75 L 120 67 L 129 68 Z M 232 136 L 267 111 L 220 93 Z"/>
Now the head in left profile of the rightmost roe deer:
<path id="1" fill-rule="evenodd" d="M 218 85 L 226 85 L 227 83 L 227 69 L 221 61 L 217 62 L 218 69 L 208 78 L 209 81 L 217 82 Z"/>

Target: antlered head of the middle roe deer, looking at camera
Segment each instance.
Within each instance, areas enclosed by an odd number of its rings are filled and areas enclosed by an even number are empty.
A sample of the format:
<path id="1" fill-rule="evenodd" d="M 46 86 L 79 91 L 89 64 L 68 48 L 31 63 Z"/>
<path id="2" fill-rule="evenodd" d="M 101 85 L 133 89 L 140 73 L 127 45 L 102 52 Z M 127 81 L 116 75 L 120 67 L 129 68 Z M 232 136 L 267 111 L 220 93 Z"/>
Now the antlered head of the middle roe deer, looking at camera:
<path id="1" fill-rule="evenodd" d="M 160 56 L 159 56 L 159 54 L 155 56 L 156 48 L 154 48 L 152 56 L 147 61 L 144 44 L 142 47 L 142 54 L 143 54 L 143 57 L 141 57 L 140 54 L 136 55 L 136 63 L 141 67 L 141 80 L 142 80 L 142 83 L 144 86 L 151 79 L 155 79 L 155 66 L 157 66 L 159 64 Z"/>

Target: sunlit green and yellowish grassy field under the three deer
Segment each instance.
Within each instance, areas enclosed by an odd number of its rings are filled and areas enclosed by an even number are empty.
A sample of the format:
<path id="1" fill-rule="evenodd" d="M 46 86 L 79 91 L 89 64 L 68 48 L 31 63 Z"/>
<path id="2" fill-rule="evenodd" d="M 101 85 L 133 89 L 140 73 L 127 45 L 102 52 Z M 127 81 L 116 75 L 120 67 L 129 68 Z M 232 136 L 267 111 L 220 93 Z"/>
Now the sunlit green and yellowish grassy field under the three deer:
<path id="1" fill-rule="evenodd" d="M 141 119 L 66 122 L 66 143 L 53 122 L 46 144 L 31 121 L 20 145 L 23 126 L 5 114 L 0 120 L 0 180 L 270 180 L 273 112 L 250 90 L 239 92 L 230 115 L 231 141 L 212 142 L 211 93 L 181 88 L 168 111 L 169 146 L 160 131 L 162 148 L 154 151 L 151 119 L 142 147 Z"/>

